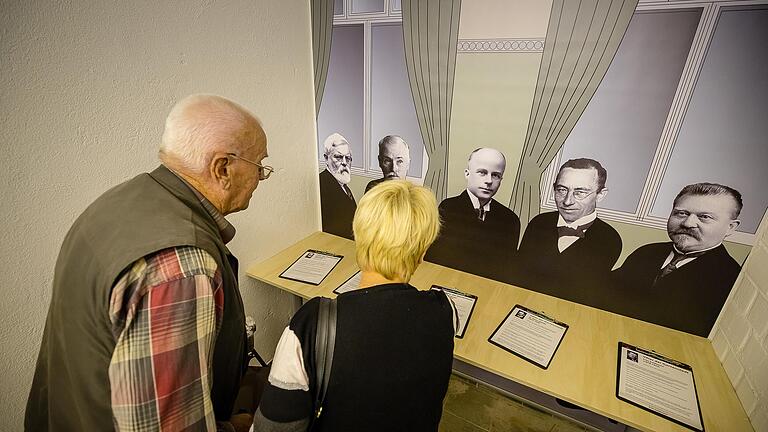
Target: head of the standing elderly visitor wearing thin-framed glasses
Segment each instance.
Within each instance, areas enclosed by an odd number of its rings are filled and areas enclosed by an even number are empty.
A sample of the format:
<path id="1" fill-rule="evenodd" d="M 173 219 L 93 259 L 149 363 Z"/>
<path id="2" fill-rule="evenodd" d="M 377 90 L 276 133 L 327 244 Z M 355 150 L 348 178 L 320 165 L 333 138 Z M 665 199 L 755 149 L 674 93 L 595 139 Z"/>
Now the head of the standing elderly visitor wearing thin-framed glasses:
<path id="1" fill-rule="evenodd" d="M 261 122 L 242 106 L 197 94 L 171 109 L 159 156 L 226 215 L 248 208 L 262 178 L 267 137 Z"/>

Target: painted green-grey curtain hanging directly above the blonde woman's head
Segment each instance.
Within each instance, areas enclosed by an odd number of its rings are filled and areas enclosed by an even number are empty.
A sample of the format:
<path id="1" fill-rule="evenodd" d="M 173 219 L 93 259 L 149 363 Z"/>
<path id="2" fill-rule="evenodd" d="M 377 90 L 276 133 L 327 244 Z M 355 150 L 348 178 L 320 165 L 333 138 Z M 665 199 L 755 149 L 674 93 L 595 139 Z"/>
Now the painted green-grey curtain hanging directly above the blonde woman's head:
<path id="1" fill-rule="evenodd" d="M 461 0 L 403 0 L 403 41 L 411 94 L 429 156 L 424 186 L 447 193 L 448 136 Z"/>

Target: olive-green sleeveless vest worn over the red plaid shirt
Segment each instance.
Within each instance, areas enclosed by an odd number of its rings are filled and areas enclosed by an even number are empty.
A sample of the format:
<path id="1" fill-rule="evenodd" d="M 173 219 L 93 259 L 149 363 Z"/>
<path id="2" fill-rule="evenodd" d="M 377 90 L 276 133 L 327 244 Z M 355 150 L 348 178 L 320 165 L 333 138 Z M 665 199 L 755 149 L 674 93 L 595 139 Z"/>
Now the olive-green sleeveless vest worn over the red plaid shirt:
<path id="1" fill-rule="evenodd" d="M 246 366 L 237 260 L 195 193 L 161 165 L 104 193 L 67 233 L 25 430 L 114 430 L 108 369 L 118 335 L 109 320 L 112 286 L 139 258 L 175 246 L 203 249 L 221 269 L 224 318 L 213 353 L 211 398 L 216 419 L 229 419 Z"/>

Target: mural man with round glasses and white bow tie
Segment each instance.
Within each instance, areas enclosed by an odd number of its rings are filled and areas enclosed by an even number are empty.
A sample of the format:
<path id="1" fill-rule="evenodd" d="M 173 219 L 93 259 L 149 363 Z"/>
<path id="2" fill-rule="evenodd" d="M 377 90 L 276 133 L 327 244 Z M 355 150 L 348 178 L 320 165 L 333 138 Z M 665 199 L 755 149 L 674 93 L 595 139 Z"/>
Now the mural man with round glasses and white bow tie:
<path id="1" fill-rule="evenodd" d="M 554 184 L 556 212 L 531 220 L 520 243 L 513 284 L 593 305 L 621 254 L 621 237 L 597 217 L 608 174 L 593 159 L 571 159 Z"/>

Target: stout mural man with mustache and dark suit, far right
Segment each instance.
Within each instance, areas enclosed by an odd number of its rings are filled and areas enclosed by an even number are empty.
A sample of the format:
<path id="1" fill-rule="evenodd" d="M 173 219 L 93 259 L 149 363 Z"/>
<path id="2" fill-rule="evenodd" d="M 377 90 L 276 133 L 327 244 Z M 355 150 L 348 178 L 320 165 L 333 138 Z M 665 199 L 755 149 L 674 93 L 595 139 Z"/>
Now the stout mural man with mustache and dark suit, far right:
<path id="1" fill-rule="evenodd" d="M 728 186 L 684 187 L 667 220 L 672 241 L 639 247 L 614 271 L 614 309 L 706 337 L 741 270 L 723 246 L 741 207 L 741 194 Z"/>

